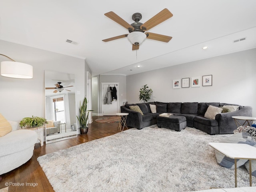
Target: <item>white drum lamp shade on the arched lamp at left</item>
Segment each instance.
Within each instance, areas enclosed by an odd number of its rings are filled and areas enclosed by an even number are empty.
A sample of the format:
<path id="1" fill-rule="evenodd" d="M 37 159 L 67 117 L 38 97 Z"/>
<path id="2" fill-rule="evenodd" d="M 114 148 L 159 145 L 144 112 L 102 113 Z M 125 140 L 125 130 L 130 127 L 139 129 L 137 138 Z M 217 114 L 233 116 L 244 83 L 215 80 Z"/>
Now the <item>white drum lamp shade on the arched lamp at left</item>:
<path id="1" fill-rule="evenodd" d="M 1 75 L 11 78 L 31 79 L 33 78 L 33 66 L 14 61 L 2 61 Z"/>

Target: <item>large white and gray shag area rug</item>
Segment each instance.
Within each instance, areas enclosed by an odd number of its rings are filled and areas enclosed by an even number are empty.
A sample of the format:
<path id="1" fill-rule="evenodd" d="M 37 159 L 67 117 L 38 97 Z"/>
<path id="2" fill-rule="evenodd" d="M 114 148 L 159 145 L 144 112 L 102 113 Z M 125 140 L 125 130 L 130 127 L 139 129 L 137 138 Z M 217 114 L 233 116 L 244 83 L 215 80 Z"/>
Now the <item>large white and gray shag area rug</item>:
<path id="1" fill-rule="evenodd" d="M 234 188 L 234 170 L 218 165 L 208 142 L 230 135 L 132 128 L 38 157 L 56 192 L 184 192 Z M 238 187 L 249 186 L 238 168 Z M 256 178 L 252 177 L 255 186 Z"/>

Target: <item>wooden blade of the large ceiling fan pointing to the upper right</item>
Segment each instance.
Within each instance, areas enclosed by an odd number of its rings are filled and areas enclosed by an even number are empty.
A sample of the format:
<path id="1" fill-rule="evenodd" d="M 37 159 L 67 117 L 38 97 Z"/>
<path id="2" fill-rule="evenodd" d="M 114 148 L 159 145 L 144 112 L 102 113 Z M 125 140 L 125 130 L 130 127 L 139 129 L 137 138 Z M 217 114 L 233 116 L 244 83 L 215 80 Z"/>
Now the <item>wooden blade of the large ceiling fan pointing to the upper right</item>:
<path id="1" fill-rule="evenodd" d="M 156 14 L 154 17 L 146 21 L 144 24 L 140 26 L 140 29 L 142 30 L 149 30 L 153 28 L 154 26 L 164 22 L 165 20 L 171 18 L 173 14 L 168 10 L 164 9 L 160 11 L 158 14 Z"/>

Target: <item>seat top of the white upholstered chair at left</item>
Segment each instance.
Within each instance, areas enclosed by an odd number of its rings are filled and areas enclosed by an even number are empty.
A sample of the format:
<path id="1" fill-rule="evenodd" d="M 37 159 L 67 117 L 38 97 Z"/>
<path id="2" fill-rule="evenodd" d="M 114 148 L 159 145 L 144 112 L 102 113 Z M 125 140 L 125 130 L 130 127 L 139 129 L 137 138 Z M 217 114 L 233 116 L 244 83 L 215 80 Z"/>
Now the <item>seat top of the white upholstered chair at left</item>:
<path id="1" fill-rule="evenodd" d="M 0 138 L 1 154 L 6 156 L 25 150 L 37 141 L 37 133 L 33 130 L 16 130 Z"/>

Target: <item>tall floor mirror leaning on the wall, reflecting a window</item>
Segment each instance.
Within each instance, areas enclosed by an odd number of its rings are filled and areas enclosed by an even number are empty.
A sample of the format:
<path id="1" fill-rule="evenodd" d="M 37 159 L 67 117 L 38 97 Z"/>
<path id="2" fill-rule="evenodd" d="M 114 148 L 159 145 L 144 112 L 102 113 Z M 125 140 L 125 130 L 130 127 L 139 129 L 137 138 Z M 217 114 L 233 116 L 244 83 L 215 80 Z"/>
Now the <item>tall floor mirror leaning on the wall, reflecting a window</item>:
<path id="1" fill-rule="evenodd" d="M 44 80 L 46 144 L 76 137 L 75 75 L 45 71 Z"/>

